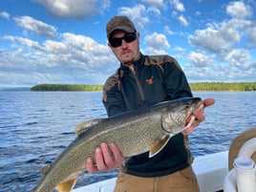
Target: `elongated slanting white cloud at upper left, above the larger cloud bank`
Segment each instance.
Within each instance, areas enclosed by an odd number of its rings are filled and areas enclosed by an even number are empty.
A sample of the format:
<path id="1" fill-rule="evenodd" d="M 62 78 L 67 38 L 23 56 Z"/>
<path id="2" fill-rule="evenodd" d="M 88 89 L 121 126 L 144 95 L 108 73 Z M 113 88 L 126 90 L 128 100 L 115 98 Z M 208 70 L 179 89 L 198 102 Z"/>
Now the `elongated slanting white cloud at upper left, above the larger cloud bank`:
<path id="1" fill-rule="evenodd" d="M 56 29 L 42 21 L 38 21 L 31 16 L 14 17 L 14 21 L 24 30 L 36 32 L 41 36 L 56 37 Z"/>

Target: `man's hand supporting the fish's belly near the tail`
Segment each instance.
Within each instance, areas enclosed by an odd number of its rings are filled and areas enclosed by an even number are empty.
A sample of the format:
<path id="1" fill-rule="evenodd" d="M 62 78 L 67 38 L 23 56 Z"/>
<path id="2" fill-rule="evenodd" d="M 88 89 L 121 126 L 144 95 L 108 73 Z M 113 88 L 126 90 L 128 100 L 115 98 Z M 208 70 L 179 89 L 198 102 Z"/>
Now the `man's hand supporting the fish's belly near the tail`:
<path id="1" fill-rule="evenodd" d="M 109 146 L 107 143 L 101 143 L 100 147 L 96 148 L 95 160 L 88 158 L 86 160 L 86 170 L 89 173 L 95 173 L 96 171 L 112 171 L 122 164 L 124 158 L 115 143 L 111 143 Z"/>

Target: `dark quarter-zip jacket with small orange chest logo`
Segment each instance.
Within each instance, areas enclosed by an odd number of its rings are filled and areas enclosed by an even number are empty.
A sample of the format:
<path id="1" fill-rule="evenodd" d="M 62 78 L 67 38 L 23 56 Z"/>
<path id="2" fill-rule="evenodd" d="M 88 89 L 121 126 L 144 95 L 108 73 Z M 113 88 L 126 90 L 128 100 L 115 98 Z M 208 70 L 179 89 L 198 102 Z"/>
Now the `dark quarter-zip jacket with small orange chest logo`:
<path id="1" fill-rule="evenodd" d="M 136 110 L 155 103 L 192 96 L 180 65 L 169 55 L 143 55 L 134 63 L 135 72 L 120 64 L 117 73 L 104 84 L 103 104 L 108 116 Z M 160 154 L 148 153 L 130 158 L 122 170 L 140 177 L 158 177 L 174 173 L 191 164 L 187 137 L 174 136 Z"/>

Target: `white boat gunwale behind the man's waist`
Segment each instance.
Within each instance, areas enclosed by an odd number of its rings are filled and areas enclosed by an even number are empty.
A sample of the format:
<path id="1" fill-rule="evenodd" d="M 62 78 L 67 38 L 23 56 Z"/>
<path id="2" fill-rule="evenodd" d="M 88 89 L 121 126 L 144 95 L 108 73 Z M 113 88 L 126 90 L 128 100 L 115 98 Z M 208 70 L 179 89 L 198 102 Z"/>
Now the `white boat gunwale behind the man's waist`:
<path id="1" fill-rule="evenodd" d="M 200 184 L 201 192 L 223 190 L 224 177 L 228 173 L 228 152 L 220 152 L 197 157 L 193 168 Z M 116 178 L 99 181 L 73 190 L 73 192 L 113 192 Z"/>

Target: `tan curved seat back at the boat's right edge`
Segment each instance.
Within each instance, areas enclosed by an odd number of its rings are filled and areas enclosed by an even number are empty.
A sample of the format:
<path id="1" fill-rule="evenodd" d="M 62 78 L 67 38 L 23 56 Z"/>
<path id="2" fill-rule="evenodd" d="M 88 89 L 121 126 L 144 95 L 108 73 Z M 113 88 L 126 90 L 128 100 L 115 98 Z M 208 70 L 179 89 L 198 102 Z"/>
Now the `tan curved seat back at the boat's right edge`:
<path id="1" fill-rule="evenodd" d="M 252 127 L 249 129 L 246 129 L 244 132 L 242 132 L 240 135 L 238 135 L 235 139 L 233 139 L 229 152 L 228 152 L 228 169 L 233 169 L 233 161 L 237 158 L 239 150 L 243 146 L 243 144 L 249 140 L 256 138 L 256 127 Z M 251 159 L 256 162 L 256 150 L 252 154 Z"/>

